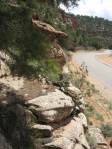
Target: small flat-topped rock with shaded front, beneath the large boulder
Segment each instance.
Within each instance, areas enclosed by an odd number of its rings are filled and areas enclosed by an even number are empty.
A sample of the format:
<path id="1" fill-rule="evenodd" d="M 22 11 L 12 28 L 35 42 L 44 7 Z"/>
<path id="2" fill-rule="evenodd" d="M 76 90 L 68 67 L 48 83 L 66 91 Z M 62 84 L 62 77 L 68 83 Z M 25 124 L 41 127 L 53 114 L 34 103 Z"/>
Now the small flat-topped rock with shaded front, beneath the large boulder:
<path id="1" fill-rule="evenodd" d="M 30 128 L 30 131 L 35 138 L 46 138 L 52 136 L 53 128 L 49 125 L 35 124 Z"/>

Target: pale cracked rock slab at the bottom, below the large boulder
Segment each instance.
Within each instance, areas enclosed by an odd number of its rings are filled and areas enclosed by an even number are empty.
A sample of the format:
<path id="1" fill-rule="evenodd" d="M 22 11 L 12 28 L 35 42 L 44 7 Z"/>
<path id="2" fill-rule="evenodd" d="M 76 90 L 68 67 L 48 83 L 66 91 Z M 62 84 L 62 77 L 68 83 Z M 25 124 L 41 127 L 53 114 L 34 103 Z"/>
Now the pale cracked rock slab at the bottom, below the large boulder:
<path id="1" fill-rule="evenodd" d="M 74 117 L 67 124 L 54 131 L 54 140 L 46 146 L 51 149 L 75 149 L 77 143 L 80 144 L 78 145 L 79 149 L 90 149 L 81 120 Z"/>

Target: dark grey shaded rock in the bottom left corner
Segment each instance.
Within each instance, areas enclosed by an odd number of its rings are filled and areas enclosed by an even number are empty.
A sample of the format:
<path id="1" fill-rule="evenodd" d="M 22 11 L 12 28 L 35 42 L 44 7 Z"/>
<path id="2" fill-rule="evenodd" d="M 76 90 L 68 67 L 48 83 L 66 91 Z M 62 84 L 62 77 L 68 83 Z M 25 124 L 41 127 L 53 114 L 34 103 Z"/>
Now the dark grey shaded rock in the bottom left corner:
<path id="1" fill-rule="evenodd" d="M 0 149 L 13 149 L 1 133 L 0 133 Z"/>

